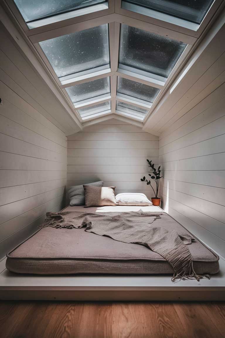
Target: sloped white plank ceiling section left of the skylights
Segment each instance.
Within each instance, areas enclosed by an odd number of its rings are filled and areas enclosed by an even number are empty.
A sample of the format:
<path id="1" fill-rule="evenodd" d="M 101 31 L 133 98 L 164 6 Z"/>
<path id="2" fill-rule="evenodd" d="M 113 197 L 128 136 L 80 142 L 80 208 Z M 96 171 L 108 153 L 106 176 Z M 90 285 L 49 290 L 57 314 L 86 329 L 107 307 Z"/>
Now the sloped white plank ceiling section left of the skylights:
<path id="1" fill-rule="evenodd" d="M 61 132 L 62 137 L 80 130 L 58 97 L 53 94 L 15 42 L 13 43 L 1 23 L 0 39 L 0 79 L 32 106 L 30 114 L 35 116 L 37 110 L 43 115 L 40 119 L 45 121 L 45 125 L 57 134 Z"/>

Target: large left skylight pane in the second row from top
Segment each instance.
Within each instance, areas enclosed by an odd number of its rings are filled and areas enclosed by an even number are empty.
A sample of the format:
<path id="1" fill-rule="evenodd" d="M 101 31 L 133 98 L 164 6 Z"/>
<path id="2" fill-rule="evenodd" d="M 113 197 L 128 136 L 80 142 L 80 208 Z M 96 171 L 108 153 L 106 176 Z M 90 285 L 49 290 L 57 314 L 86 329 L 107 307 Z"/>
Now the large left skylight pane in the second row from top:
<path id="1" fill-rule="evenodd" d="M 39 42 L 58 77 L 109 67 L 108 25 Z M 94 71 L 94 70 L 93 70 Z"/>

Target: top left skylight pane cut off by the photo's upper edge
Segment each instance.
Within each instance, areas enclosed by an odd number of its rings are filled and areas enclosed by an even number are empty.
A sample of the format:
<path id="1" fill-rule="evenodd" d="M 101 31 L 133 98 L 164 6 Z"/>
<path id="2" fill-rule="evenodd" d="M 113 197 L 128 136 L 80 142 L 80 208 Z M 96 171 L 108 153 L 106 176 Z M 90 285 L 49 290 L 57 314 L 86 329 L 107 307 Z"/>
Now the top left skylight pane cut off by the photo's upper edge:
<path id="1" fill-rule="evenodd" d="M 26 23 L 67 13 L 105 0 L 14 0 Z"/>

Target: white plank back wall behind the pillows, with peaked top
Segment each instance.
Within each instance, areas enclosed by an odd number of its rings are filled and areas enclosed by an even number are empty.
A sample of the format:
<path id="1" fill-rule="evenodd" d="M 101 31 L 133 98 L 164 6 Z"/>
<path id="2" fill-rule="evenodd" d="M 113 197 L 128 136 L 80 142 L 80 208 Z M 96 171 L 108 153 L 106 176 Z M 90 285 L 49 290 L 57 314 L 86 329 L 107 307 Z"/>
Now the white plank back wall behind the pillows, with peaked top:
<path id="1" fill-rule="evenodd" d="M 117 120 L 89 126 L 68 136 L 67 186 L 99 180 L 116 186 L 116 194 L 152 192 L 140 179 L 148 174 L 146 159 L 158 163 L 159 138 Z"/>

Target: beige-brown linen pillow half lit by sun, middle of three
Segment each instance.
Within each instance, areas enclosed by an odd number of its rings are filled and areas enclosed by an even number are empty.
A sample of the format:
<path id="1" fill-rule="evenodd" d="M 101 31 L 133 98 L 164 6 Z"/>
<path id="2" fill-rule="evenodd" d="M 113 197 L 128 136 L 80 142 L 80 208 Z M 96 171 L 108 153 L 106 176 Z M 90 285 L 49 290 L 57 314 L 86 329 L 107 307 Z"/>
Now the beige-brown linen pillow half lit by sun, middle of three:
<path id="1" fill-rule="evenodd" d="M 94 187 L 84 185 L 85 208 L 116 206 L 115 187 Z"/>

